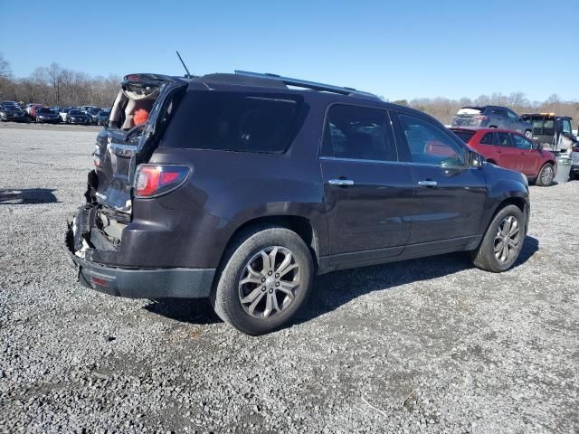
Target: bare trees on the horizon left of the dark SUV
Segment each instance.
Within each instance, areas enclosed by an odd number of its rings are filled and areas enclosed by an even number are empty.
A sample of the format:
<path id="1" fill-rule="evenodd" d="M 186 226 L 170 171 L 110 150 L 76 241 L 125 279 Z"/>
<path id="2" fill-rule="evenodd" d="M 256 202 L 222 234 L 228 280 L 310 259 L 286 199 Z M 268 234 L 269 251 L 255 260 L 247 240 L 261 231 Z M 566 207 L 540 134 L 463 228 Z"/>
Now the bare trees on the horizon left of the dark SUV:
<path id="1" fill-rule="evenodd" d="M 0 100 L 37 102 L 47 106 L 94 105 L 110 107 L 119 92 L 116 75 L 91 77 L 62 68 L 58 63 L 38 67 L 25 78 L 14 78 L 0 54 Z"/>

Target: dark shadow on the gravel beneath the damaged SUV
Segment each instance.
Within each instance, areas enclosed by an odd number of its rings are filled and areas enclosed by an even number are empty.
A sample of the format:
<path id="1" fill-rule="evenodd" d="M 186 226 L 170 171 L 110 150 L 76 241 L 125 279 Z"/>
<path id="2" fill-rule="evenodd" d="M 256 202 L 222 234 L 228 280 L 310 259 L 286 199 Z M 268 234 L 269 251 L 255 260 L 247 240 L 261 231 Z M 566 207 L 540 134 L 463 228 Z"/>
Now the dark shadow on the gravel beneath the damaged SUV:
<path id="1" fill-rule="evenodd" d="M 527 236 L 515 267 L 524 264 L 538 249 L 539 241 Z M 472 268 L 473 265 L 466 253 L 451 253 L 328 273 L 316 278 L 307 306 L 301 309 L 287 326 L 304 323 L 327 314 L 354 298 L 370 292 L 440 278 Z M 166 316 L 182 323 L 215 324 L 221 322 L 206 298 L 164 298 L 151 301 L 145 309 L 153 314 Z"/>

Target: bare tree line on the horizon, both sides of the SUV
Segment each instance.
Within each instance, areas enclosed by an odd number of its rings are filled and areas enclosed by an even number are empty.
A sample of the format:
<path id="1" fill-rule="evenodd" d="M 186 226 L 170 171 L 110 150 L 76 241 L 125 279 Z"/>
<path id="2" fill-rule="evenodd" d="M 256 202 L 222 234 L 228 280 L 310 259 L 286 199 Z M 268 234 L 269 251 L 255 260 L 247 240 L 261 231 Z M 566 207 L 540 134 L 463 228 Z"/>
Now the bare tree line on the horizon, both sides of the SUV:
<path id="1" fill-rule="evenodd" d="M 62 68 L 57 63 L 48 67 L 39 67 L 26 78 L 14 78 L 10 71 L 10 64 L 0 53 L 0 99 L 19 102 L 38 102 L 48 106 L 81 106 L 94 105 L 108 107 L 119 92 L 120 77 L 110 75 L 104 77 L 90 77 L 90 75 Z M 565 101 L 557 95 L 551 95 L 545 101 L 530 101 L 522 92 L 510 95 L 493 93 L 480 95 L 477 99 L 400 99 L 398 104 L 413 107 L 434 118 L 443 124 L 449 125 L 452 116 L 465 106 L 497 105 L 523 113 L 556 113 L 574 118 L 575 125 L 579 122 L 579 102 Z"/>

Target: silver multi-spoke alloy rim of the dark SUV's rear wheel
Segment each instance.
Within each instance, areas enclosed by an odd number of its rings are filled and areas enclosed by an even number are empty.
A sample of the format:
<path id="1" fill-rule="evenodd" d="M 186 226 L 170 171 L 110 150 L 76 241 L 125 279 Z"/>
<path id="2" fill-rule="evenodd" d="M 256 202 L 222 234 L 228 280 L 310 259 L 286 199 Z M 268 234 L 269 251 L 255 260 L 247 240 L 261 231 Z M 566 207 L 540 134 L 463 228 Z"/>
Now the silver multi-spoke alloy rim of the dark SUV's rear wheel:
<path id="1" fill-rule="evenodd" d="M 285 247 L 268 247 L 245 264 L 239 282 L 239 300 L 250 316 L 270 318 L 291 305 L 299 284 L 299 264 L 294 254 Z"/>

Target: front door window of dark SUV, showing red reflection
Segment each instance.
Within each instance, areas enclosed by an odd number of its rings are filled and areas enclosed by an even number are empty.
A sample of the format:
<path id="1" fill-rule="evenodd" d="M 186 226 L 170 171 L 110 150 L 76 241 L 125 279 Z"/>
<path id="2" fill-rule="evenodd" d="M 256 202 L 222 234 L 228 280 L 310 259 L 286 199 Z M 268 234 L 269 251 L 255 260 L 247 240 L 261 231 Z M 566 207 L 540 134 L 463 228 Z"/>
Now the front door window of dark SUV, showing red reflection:
<path id="1" fill-rule="evenodd" d="M 400 115 L 413 163 L 464 165 L 464 148 L 441 127 L 422 118 Z"/>

